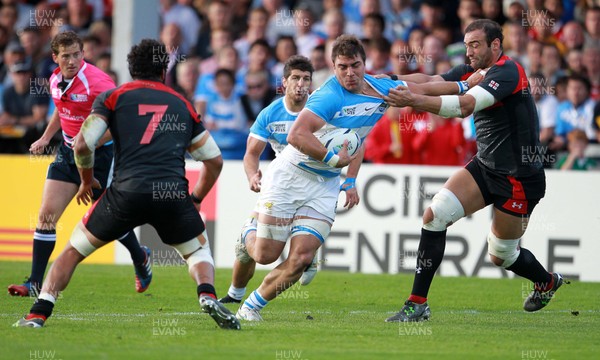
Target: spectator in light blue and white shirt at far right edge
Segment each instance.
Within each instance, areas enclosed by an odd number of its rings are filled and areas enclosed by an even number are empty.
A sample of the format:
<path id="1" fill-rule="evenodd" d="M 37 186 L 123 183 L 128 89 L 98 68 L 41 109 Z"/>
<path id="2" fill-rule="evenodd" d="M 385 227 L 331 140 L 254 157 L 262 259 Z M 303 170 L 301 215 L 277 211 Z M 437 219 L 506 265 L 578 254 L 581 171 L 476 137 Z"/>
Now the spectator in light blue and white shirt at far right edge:
<path id="1" fill-rule="evenodd" d="M 569 76 L 567 100 L 558 105 L 552 150 L 565 149 L 567 134 L 575 129 L 585 131 L 590 141 L 598 141 L 599 132 L 593 122 L 594 105 L 588 79 L 581 75 Z"/>

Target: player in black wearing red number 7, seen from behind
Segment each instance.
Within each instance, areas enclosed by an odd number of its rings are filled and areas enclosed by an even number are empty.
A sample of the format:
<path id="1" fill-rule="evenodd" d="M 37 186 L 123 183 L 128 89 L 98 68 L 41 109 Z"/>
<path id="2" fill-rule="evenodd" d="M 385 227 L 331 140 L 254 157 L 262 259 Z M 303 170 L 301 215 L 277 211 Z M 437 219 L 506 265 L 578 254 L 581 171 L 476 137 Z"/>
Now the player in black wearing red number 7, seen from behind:
<path id="1" fill-rule="evenodd" d="M 94 150 L 107 129 L 115 142 L 113 183 L 73 230 L 29 315 L 15 326 L 43 326 L 79 262 L 111 239 L 147 223 L 186 260 L 202 310 L 222 328 L 240 328 L 235 316 L 217 301 L 214 262 L 198 213 L 201 199 L 221 172 L 221 152 L 192 105 L 163 84 L 168 59 L 155 54 L 165 51 L 155 40 L 142 40 L 127 56 L 134 80 L 94 101 L 75 140 L 81 175 L 77 201 L 87 204 L 99 185 L 94 178 Z M 186 150 L 204 163 L 191 195 L 185 178 Z"/>

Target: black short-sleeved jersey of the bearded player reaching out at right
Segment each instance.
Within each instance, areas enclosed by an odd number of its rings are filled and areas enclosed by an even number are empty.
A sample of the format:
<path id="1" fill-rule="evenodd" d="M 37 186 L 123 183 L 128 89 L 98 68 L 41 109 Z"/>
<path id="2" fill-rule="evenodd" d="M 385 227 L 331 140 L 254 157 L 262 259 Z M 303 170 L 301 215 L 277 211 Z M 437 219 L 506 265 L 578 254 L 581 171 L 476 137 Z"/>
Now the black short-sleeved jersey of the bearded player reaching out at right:
<path id="1" fill-rule="evenodd" d="M 473 72 L 459 65 L 442 77 L 465 80 Z M 496 99 L 490 107 L 473 114 L 477 157 L 489 169 L 503 175 L 531 176 L 543 172 L 539 120 L 529 81 L 523 67 L 502 55 L 477 85 Z M 533 160 L 532 160 L 533 159 Z"/>

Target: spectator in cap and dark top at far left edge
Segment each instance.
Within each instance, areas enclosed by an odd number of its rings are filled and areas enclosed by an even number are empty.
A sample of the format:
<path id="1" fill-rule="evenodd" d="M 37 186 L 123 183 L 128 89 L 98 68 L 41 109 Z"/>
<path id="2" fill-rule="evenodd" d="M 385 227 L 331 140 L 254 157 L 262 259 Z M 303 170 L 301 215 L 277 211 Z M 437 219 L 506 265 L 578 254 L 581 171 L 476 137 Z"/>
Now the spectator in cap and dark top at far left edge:
<path id="1" fill-rule="evenodd" d="M 48 92 L 33 80 L 29 62 L 19 62 L 10 67 L 13 85 L 2 93 L 0 127 L 3 137 L 0 152 L 27 153 L 29 146 L 39 137 L 48 113 Z"/>

